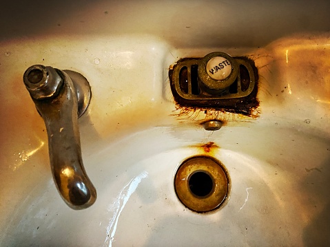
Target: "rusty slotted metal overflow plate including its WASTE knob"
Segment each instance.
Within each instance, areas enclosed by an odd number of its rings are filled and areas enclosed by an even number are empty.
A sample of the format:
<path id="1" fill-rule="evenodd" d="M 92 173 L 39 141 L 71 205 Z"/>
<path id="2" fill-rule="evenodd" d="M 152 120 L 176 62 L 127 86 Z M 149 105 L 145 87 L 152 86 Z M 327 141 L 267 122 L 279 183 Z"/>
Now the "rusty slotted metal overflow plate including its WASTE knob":
<path id="1" fill-rule="evenodd" d="M 250 58 L 212 52 L 181 58 L 169 67 L 176 105 L 254 116 L 259 101 L 258 69 Z"/>

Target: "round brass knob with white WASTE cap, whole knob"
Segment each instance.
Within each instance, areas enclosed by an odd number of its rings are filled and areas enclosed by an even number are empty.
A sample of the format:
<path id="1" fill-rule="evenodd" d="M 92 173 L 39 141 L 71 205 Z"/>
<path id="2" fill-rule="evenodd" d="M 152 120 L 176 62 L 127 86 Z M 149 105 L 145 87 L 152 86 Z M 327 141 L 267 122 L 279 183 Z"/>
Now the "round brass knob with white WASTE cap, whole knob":
<path id="1" fill-rule="evenodd" d="M 200 86 L 209 94 L 221 95 L 234 83 L 238 65 L 234 58 L 224 52 L 212 52 L 204 56 L 198 66 Z"/>

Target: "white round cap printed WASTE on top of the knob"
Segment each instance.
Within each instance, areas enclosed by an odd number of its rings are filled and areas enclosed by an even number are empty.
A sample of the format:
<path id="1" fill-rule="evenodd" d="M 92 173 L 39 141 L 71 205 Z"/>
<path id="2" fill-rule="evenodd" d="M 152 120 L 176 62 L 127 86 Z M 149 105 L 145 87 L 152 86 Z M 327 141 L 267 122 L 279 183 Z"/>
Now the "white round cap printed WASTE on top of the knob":
<path id="1" fill-rule="evenodd" d="M 228 58 L 215 56 L 207 62 L 206 72 L 214 80 L 225 80 L 231 73 L 231 63 Z"/>

